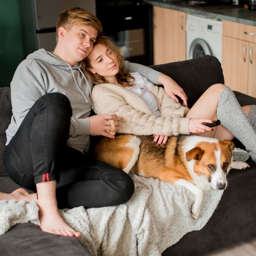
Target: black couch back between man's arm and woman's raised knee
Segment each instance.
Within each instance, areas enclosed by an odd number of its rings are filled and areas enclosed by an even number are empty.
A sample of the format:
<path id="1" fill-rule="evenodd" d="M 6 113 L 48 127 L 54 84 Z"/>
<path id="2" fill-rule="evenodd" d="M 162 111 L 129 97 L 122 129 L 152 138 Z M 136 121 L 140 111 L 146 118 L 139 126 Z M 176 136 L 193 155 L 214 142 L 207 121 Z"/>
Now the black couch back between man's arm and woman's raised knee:
<path id="1" fill-rule="evenodd" d="M 189 108 L 211 85 L 224 83 L 220 62 L 216 57 L 209 55 L 150 67 L 170 76 L 183 88 L 188 97 Z"/>

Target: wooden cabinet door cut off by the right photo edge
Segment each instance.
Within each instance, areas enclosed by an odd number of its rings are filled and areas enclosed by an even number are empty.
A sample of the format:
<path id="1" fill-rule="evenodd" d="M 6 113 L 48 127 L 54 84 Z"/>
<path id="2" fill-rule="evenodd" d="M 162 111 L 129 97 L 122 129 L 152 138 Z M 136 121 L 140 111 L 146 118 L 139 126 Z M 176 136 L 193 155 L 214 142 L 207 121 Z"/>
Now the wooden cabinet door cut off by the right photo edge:
<path id="1" fill-rule="evenodd" d="M 256 43 L 249 43 L 248 94 L 256 97 Z"/>

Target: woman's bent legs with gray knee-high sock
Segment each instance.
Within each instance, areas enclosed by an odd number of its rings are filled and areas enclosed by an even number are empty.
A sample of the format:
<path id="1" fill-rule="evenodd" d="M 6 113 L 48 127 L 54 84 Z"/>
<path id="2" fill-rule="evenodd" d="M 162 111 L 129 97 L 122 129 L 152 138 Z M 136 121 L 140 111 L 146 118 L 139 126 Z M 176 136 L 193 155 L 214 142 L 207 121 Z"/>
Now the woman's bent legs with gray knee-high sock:
<path id="1" fill-rule="evenodd" d="M 245 107 L 244 110 L 248 112 L 248 108 Z M 252 160 L 256 162 L 256 130 L 249 122 L 234 92 L 229 87 L 222 84 L 212 85 L 202 94 L 186 117 L 208 117 L 209 119 L 218 117 L 227 129 L 218 126 L 212 132 L 205 132 L 203 136 L 229 140 L 235 136 L 249 151 Z"/>

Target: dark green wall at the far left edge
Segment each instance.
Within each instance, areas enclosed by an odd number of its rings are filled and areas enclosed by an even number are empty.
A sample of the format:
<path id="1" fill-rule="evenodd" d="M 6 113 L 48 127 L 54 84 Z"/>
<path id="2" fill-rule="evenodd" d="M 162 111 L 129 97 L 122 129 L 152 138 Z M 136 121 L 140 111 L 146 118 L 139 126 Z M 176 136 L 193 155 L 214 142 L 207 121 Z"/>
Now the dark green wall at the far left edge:
<path id="1" fill-rule="evenodd" d="M 10 86 L 23 59 L 18 0 L 0 0 L 0 87 Z"/>

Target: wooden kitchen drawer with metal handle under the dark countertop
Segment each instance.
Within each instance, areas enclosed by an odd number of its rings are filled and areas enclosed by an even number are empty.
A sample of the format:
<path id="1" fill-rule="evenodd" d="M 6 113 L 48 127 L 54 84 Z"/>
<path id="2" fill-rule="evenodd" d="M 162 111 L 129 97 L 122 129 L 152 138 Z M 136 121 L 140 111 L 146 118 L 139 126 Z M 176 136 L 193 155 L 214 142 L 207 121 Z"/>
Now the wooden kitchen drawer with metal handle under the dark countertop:
<path id="1" fill-rule="evenodd" d="M 237 38 L 247 42 L 256 43 L 256 27 L 231 22 L 227 20 L 222 21 L 222 35 Z"/>

